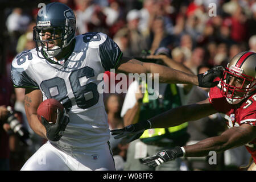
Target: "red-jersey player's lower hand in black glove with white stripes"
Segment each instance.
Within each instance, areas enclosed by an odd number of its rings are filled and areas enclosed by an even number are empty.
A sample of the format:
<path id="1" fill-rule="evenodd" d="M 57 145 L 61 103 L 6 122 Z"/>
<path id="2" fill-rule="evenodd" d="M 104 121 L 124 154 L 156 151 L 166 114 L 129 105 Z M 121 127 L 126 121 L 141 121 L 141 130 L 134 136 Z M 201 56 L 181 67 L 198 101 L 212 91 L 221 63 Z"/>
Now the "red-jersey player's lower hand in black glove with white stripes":
<path id="1" fill-rule="evenodd" d="M 164 162 L 175 160 L 181 156 L 183 156 L 183 151 L 180 147 L 175 147 L 171 150 L 162 150 L 156 152 L 155 155 L 142 159 L 142 162 L 143 164 L 147 164 L 147 166 L 156 167 Z"/>

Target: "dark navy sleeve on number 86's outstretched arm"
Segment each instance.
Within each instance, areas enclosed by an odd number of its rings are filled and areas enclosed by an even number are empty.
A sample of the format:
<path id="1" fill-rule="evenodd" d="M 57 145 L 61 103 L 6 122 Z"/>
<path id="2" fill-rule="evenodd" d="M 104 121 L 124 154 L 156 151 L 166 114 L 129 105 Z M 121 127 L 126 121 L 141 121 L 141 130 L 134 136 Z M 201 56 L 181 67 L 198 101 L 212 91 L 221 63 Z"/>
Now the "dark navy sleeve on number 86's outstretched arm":
<path id="1" fill-rule="evenodd" d="M 100 58 L 105 71 L 115 68 L 122 55 L 117 44 L 107 36 L 105 42 L 100 45 Z"/>

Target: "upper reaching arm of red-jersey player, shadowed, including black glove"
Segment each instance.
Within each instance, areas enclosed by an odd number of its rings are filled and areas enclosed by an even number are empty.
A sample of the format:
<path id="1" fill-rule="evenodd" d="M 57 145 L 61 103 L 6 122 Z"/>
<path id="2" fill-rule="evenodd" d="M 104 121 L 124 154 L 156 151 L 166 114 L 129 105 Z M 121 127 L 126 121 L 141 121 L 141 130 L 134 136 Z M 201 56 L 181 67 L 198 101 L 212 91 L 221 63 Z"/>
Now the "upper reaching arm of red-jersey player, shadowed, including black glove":
<path id="1" fill-rule="evenodd" d="M 177 126 L 187 121 L 196 121 L 214 113 L 217 113 L 217 110 L 213 108 L 207 99 L 197 104 L 176 107 L 147 121 L 138 122 L 111 132 L 115 139 L 123 138 L 125 142 L 131 142 L 141 137 L 144 130 Z"/>

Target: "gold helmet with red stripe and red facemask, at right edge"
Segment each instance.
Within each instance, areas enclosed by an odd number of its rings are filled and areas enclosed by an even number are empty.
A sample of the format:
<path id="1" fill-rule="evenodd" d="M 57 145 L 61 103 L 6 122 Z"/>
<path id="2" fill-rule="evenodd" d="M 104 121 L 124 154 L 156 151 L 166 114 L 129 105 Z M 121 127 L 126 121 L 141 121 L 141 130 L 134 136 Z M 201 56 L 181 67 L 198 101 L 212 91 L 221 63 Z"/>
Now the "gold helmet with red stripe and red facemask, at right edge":
<path id="1" fill-rule="evenodd" d="M 238 53 L 228 64 L 220 81 L 222 95 L 226 97 L 229 104 L 238 104 L 254 93 L 256 88 L 255 78 L 256 53 Z M 230 84 L 231 80 L 234 79 L 237 80 L 240 86 Z"/>

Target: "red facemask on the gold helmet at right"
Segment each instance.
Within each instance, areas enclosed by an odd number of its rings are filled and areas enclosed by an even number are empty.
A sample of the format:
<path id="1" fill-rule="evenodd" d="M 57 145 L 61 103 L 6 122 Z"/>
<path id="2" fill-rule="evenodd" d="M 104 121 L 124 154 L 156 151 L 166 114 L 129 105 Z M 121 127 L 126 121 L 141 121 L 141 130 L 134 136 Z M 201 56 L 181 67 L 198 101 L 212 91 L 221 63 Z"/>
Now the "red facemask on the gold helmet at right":
<path id="1" fill-rule="evenodd" d="M 230 67 L 232 68 L 232 67 Z M 235 77 L 236 80 L 241 84 L 240 87 L 230 85 L 231 78 Z M 221 79 L 221 93 L 229 104 L 238 104 L 244 98 L 250 96 L 255 90 L 255 78 L 247 76 L 243 73 L 234 71 L 234 69 L 226 68 L 224 76 Z"/>

